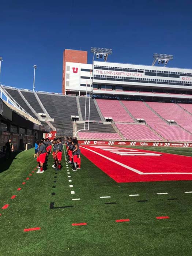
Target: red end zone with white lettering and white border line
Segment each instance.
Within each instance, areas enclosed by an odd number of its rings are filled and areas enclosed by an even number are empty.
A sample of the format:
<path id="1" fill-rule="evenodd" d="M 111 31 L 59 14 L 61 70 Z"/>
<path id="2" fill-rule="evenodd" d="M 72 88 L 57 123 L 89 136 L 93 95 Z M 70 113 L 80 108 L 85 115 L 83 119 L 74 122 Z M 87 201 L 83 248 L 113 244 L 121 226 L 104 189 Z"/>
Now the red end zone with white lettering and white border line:
<path id="1" fill-rule="evenodd" d="M 192 180 L 192 157 L 113 146 L 81 152 L 116 182 Z"/>

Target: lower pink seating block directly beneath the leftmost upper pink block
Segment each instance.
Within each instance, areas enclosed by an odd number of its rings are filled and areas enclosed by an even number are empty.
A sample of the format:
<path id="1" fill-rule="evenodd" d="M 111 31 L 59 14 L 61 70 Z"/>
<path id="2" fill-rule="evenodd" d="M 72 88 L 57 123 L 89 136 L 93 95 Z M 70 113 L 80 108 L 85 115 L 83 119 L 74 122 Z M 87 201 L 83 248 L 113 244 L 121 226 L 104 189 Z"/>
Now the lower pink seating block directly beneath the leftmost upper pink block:
<path id="1" fill-rule="evenodd" d="M 119 131 L 128 140 L 163 140 L 145 124 L 116 124 Z"/>

